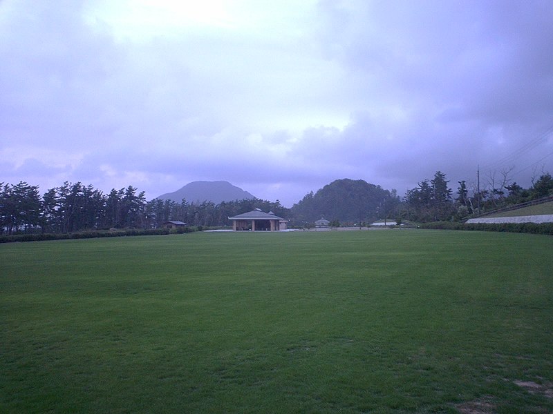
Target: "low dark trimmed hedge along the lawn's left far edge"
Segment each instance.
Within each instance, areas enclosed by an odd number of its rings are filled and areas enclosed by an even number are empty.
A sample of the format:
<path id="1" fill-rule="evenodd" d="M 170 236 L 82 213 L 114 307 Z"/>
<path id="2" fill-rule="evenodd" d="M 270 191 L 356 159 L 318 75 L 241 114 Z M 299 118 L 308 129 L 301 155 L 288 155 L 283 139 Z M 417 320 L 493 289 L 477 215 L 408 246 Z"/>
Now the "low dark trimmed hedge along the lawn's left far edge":
<path id="1" fill-rule="evenodd" d="M 95 239 L 97 237 L 124 237 L 124 236 L 155 236 L 190 233 L 196 229 L 190 227 L 176 228 L 153 228 L 149 230 L 128 229 L 128 230 L 89 230 L 79 233 L 44 233 L 28 235 L 10 235 L 0 236 L 0 243 L 10 242 L 41 242 L 44 240 L 64 240 L 64 239 Z"/>

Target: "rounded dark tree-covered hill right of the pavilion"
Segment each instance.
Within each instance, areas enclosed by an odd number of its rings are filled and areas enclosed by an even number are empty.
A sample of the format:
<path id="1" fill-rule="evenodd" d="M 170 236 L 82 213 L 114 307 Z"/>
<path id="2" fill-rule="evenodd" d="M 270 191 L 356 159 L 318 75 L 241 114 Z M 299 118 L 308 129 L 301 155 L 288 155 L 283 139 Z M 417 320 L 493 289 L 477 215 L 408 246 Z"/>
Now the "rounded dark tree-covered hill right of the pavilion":
<path id="1" fill-rule="evenodd" d="M 312 223 L 324 217 L 345 223 L 370 222 L 383 218 L 400 203 L 390 192 L 359 179 L 337 179 L 292 206 L 294 221 Z"/>

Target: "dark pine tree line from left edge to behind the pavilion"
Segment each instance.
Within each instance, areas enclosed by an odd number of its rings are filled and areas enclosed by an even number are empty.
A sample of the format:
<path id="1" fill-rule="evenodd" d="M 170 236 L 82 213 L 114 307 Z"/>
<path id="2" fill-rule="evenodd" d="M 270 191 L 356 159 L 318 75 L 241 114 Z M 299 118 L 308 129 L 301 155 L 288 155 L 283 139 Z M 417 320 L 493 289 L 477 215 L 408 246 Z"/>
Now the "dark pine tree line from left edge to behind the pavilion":
<path id="1" fill-rule="evenodd" d="M 218 205 L 185 199 L 180 203 L 157 198 L 147 201 L 145 193 L 133 186 L 104 194 L 92 185 L 68 181 L 41 196 L 38 186 L 25 181 L 0 183 L 0 235 L 160 228 L 169 220 L 189 226 L 228 226 L 229 216 L 256 207 L 282 217 L 288 215 L 288 209 L 278 200 L 245 199 Z"/>

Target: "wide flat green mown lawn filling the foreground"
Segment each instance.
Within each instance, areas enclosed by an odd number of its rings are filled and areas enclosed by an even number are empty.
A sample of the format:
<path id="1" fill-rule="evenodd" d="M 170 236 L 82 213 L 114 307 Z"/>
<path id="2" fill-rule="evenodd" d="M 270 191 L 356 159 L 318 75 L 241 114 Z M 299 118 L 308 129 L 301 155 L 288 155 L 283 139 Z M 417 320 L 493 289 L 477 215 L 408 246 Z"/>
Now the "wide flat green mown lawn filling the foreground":
<path id="1" fill-rule="evenodd" d="M 550 413 L 552 252 L 439 230 L 3 244 L 0 412 Z"/>

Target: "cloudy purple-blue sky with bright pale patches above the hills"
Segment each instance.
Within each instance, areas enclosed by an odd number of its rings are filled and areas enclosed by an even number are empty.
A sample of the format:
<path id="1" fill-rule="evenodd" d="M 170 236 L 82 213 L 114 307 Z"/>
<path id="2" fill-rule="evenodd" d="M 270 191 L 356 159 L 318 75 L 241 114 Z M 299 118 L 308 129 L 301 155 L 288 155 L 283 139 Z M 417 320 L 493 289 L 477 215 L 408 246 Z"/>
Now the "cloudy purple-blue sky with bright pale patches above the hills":
<path id="1" fill-rule="evenodd" d="M 292 206 L 553 173 L 553 3 L 0 0 L 0 181 Z"/>

